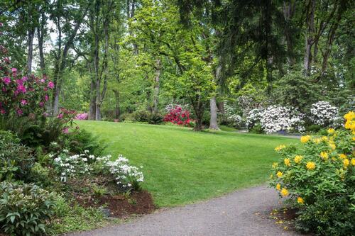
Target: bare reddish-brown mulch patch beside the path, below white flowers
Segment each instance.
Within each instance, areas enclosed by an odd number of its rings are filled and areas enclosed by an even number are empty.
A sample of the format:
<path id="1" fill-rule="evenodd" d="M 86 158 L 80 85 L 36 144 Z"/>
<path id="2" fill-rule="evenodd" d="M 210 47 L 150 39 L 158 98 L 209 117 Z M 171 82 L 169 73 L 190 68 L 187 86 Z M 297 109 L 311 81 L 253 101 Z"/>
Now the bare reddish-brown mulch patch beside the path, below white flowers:
<path id="1" fill-rule="evenodd" d="M 104 212 L 114 218 L 128 218 L 129 215 L 143 215 L 153 212 L 155 205 L 148 191 L 133 191 L 131 194 L 100 197 L 77 196 L 77 202 L 86 207 L 103 208 Z"/>

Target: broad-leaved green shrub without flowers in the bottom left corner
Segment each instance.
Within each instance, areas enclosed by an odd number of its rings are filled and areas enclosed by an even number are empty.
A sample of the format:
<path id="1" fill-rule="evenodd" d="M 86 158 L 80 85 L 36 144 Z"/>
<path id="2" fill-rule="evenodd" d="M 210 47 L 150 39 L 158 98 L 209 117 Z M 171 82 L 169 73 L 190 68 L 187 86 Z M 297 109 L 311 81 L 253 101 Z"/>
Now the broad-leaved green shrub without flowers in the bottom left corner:
<path id="1" fill-rule="evenodd" d="M 34 184 L 0 183 L 0 225 L 10 235 L 45 233 L 45 220 L 53 215 L 54 194 Z"/>

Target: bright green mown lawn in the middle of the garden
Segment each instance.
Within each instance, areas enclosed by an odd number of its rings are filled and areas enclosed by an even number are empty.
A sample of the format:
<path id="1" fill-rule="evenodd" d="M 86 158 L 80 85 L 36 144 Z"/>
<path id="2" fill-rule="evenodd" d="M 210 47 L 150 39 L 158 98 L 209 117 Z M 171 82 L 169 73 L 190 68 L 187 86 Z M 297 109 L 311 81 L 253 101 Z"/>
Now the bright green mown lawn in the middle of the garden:
<path id="1" fill-rule="evenodd" d="M 225 131 L 196 133 L 168 125 L 77 123 L 107 142 L 107 154 L 123 154 L 143 166 L 143 187 L 158 206 L 192 203 L 261 184 L 278 159 L 274 147 L 296 141 Z"/>

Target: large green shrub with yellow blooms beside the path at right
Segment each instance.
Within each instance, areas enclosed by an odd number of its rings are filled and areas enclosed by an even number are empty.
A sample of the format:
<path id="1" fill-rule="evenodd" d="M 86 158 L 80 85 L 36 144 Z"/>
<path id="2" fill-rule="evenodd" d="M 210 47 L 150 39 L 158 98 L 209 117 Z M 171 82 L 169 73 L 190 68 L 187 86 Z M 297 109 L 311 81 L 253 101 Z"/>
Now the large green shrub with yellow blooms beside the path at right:
<path id="1" fill-rule="evenodd" d="M 320 235 L 355 232 L 355 113 L 327 136 L 302 136 L 301 145 L 276 148 L 270 184 L 298 209 L 296 227 Z M 279 146 L 280 147 L 280 146 Z"/>

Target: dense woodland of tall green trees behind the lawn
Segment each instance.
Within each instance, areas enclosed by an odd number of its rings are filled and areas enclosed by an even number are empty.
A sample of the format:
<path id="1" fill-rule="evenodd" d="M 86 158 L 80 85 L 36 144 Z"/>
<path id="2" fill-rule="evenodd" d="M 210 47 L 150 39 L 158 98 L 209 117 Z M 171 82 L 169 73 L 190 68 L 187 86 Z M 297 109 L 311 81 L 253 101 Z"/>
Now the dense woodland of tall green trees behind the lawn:
<path id="1" fill-rule="evenodd" d="M 53 80 L 53 114 L 182 104 L 200 130 L 226 104 L 354 110 L 354 1 L 1 0 L 0 22 L 12 64 Z"/>

